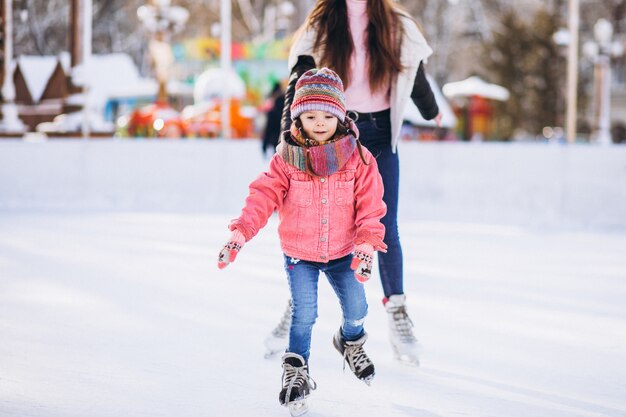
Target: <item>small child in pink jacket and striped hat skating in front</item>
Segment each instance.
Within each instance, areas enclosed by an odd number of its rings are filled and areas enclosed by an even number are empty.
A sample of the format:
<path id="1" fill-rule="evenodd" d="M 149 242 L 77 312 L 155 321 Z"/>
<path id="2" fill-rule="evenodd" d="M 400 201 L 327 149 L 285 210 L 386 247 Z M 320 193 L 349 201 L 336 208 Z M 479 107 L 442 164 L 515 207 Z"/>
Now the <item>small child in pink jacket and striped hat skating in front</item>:
<path id="1" fill-rule="evenodd" d="M 300 77 L 291 118 L 291 131 L 284 133 L 269 170 L 250 184 L 241 216 L 229 226 L 232 235 L 218 266 L 233 262 L 278 210 L 293 300 L 279 400 L 293 412 L 306 410 L 305 399 L 315 389 L 308 359 L 320 271 L 343 312 L 333 345 L 357 378 L 369 385 L 374 377 L 374 364 L 363 350 L 367 302 L 362 283 L 370 277 L 374 250 L 386 250 L 380 219 L 387 209 L 376 160 L 361 147 L 356 126 L 346 116 L 343 83 L 335 72 L 312 69 Z"/>

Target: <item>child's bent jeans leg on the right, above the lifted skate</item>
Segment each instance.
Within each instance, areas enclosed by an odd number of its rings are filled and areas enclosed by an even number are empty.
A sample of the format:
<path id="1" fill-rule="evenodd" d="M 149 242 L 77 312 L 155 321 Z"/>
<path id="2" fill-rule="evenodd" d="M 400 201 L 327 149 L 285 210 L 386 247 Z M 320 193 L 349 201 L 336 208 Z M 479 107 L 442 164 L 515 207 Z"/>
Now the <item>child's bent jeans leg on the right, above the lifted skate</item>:
<path id="1" fill-rule="evenodd" d="M 341 333 L 345 340 L 357 340 L 365 334 L 363 323 L 367 316 L 367 301 L 363 284 L 354 277 L 354 271 L 350 269 L 352 255 L 336 259 L 328 263 L 323 269 L 328 282 L 335 290 L 341 311 L 343 323 Z"/>

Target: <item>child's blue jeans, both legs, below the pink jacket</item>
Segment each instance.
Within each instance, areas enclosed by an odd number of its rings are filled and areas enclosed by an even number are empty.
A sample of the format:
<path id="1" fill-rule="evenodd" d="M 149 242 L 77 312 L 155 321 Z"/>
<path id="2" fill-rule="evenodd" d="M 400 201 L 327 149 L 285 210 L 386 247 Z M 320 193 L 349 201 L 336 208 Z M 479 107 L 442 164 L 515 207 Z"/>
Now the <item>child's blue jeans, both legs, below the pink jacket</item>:
<path id="1" fill-rule="evenodd" d="M 306 361 L 311 353 L 311 333 L 317 319 L 317 282 L 319 273 L 326 278 L 339 298 L 343 312 L 341 333 L 345 340 L 357 340 L 365 333 L 363 322 L 367 301 L 363 284 L 350 269 L 352 255 L 328 263 L 303 261 L 285 255 L 285 271 L 289 280 L 293 312 L 289 331 L 288 352 L 301 355 Z"/>

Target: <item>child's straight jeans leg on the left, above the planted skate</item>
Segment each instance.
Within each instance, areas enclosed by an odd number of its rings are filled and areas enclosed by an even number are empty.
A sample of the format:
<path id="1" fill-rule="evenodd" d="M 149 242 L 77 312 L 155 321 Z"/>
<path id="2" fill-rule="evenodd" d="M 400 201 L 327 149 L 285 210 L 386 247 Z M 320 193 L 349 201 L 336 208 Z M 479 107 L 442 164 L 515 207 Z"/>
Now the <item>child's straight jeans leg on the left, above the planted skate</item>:
<path id="1" fill-rule="evenodd" d="M 293 303 L 287 351 L 297 353 L 308 362 L 311 352 L 311 332 L 317 319 L 319 267 L 314 262 L 285 256 L 285 271 Z"/>

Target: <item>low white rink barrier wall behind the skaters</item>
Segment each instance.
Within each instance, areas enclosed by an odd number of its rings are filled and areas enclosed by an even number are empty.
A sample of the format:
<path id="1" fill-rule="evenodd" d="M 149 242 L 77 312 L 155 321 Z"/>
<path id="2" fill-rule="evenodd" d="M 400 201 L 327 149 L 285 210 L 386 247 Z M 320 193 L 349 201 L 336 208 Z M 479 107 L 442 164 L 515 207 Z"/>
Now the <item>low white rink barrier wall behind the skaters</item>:
<path id="1" fill-rule="evenodd" d="M 236 212 L 267 164 L 260 149 L 258 140 L 0 141 L 0 210 Z M 407 219 L 626 232 L 626 146 L 402 142 L 399 155 Z"/>

